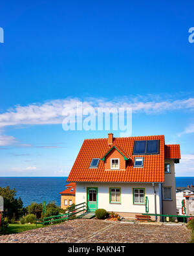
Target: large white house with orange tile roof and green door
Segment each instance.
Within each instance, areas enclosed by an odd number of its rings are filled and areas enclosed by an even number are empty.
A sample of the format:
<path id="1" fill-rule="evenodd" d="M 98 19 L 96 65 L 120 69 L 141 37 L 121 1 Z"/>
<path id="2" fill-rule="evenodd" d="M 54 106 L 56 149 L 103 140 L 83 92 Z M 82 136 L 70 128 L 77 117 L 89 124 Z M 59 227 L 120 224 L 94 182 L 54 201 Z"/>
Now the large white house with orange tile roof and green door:
<path id="1" fill-rule="evenodd" d="M 175 163 L 180 145 L 164 135 L 85 139 L 67 181 L 76 183 L 76 204 L 134 218 L 146 213 L 176 215 Z"/>

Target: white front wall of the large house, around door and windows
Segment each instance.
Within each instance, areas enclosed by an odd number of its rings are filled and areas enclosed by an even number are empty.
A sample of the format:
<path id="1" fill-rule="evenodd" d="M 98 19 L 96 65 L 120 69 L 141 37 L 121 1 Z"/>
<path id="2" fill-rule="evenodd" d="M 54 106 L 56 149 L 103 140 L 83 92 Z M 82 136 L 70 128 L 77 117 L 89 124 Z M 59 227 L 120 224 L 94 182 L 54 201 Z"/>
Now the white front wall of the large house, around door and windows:
<path id="1" fill-rule="evenodd" d="M 98 209 L 120 213 L 146 213 L 145 205 L 133 204 L 133 188 L 144 188 L 149 200 L 149 213 L 155 213 L 155 197 L 152 183 L 76 183 L 76 204 L 87 202 L 87 187 L 98 187 Z M 109 188 L 121 188 L 121 204 L 110 204 Z M 160 214 L 158 184 L 156 190 L 156 211 Z"/>

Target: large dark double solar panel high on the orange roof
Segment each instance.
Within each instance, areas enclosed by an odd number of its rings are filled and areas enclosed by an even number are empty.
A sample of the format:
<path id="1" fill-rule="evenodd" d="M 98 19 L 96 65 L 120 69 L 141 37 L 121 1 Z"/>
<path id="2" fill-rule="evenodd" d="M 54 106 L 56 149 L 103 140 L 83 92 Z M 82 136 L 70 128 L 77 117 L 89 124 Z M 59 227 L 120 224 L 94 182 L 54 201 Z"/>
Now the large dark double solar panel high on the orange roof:
<path id="1" fill-rule="evenodd" d="M 135 141 L 133 146 L 133 155 L 141 154 L 158 154 L 159 140 L 153 139 L 150 141 Z"/>

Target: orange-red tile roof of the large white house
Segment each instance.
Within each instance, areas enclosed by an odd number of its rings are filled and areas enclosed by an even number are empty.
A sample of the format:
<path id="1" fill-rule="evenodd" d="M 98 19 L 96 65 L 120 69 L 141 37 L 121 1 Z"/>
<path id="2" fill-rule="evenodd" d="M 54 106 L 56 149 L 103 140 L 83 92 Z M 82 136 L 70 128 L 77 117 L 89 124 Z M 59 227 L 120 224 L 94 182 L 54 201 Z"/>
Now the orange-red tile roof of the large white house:
<path id="1" fill-rule="evenodd" d="M 144 167 L 133 168 L 136 157 L 133 156 L 134 141 L 154 139 L 160 140 L 160 154 L 142 155 L 144 157 Z M 164 182 L 164 154 L 171 158 L 174 157 L 173 146 L 168 147 L 167 145 L 165 148 L 168 153 L 164 152 L 164 135 L 116 137 L 113 139 L 112 146 L 114 145 L 119 146 L 128 156 L 131 156 L 131 160 L 127 160 L 126 170 L 105 170 L 102 160 L 99 161 L 98 168 L 89 168 L 92 158 L 102 159 L 110 147 L 107 139 L 85 139 L 67 181 Z"/>

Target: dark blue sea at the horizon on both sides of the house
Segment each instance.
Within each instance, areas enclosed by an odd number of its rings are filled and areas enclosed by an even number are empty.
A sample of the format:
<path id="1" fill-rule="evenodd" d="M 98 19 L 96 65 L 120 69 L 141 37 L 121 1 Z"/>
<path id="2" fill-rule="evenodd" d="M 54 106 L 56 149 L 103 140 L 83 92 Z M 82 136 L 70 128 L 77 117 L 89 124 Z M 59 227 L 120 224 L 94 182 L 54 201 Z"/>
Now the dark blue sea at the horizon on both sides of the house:
<path id="1" fill-rule="evenodd" d="M 31 202 L 55 202 L 61 205 L 59 192 L 65 189 L 67 177 L 0 177 L 0 187 L 16 189 L 16 198 L 21 197 L 23 207 Z M 194 185 L 194 177 L 175 177 L 176 187 Z"/>

